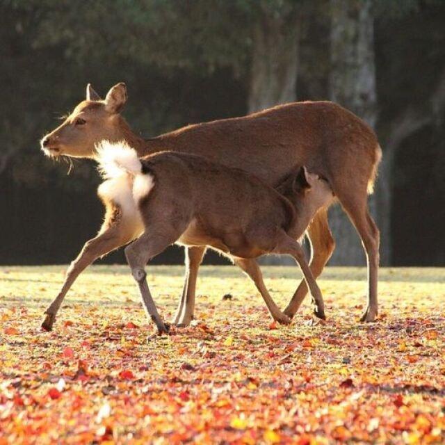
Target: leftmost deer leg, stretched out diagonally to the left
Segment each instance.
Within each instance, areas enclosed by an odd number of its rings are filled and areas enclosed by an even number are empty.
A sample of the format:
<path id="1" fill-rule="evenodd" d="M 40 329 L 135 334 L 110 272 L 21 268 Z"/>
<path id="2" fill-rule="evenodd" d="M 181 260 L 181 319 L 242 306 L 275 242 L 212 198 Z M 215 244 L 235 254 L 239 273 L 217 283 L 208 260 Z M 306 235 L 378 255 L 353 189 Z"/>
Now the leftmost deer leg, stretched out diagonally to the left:
<path id="1" fill-rule="evenodd" d="M 65 275 L 62 289 L 58 296 L 51 302 L 45 310 L 45 318 L 42 323 L 42 328 L 51 331 L 56 320 L 56 315 L 62 305 L 67 291 L 70 290 L 72 284 L 77 277 L 97 258 L 104 256 L 108 252 L 120 248 L 122 245 L 131 241 L 132 235 L 127 230 L 127 227 L 121 218 L 115 220 L 111 225 L 104 224 L 103 232 L 90 239 L 83 245 L 83 249 L 78 257 L 72 261 L 70 267 Z"/>

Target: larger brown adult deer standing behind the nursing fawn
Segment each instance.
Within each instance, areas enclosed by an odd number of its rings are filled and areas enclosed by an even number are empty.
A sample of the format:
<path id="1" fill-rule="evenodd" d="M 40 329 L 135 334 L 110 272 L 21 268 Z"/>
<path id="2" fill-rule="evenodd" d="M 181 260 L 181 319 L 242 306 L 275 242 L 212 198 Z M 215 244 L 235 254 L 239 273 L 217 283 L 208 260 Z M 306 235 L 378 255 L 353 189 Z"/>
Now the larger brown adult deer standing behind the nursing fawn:
<path id="1" fill-rule="evenodd" d="M 42 149 L 49 156 L 95 159 L 101 140 L 125 140 L 138 156 L 174 150 L 206 156 L 228 167 L 252 172 L 270 185 L 284 177 L 293 165 L 325 177 L 362 239 L 368 264 L 368 302 L 362 321 L 374 321 L 378 313 L 377 283 L 380 234 L 369 214 L 367 195 L 382 156 L 374 131 L 356 115 L 332 102 L 284 104 L 241 118 L 189 125 L 145 140 L 131 131 L 120 111 L 127 102 L 127 88 L 118 83 L 106 98 L 87 86 L 86 100 L 67 119 L 44 136 Z M 58 296 L 46 310 L 42 326 L 51 330 L 58 309 L 76 277 L 95 259 L 136 238 L 119 207 L 108 206 L 99 234 L 83 246 L 67 270 Z M 327 211 L 316 213 L 307 229 L 311 243 L 310 268 L 321 274 L 334 250 Z M 187 325 L 193 318 L 197 271 L 205 248 L 186 250 L 186 280 L 175 323 Z M 284 314 L 292 317 L 307 293 L 302 280 Z"/>

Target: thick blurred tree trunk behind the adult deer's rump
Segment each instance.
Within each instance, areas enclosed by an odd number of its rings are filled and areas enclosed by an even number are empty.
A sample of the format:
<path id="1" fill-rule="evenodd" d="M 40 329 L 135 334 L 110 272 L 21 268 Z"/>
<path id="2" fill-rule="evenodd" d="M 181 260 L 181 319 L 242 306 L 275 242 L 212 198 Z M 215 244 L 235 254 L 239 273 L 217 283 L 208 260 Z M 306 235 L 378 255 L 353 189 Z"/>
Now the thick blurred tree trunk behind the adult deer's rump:
<path id="1" fill-rule="evenodd" d="M 377 120 L 377 95 L 375 89 L 375 57 L 373 38 L 372 0 L 330 0 L 330 99 L 348 108 L 371 127 Z M 380 172 L 379 181 L 386 180 L 386 170 Z M 389 189 L 383 187 L 376 190 Z M 369 198 L 371 213 L 376 218 L 376 199 Z M 381 207 L 382 206 L 382 207 Z M 387 220 L 382 229 L 382 263 L 387 262 L 384 248 L 389 243 L 389 200 L 378 203 L 379 213 Z M 337 248 L 331 264 L 364 265 L 364 251 L 355 228 L 346 213 L 337 206 L 330 210 L 330 226 Z"/>

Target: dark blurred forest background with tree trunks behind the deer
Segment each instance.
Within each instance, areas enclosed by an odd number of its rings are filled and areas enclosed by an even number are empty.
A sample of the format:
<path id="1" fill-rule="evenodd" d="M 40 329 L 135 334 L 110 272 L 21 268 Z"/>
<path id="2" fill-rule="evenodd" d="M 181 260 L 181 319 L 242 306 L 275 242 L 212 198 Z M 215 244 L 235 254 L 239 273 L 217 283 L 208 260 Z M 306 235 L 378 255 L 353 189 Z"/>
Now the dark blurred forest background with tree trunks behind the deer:
<path id="1" fill-rule="evenodd" d="M 67 263 L 99 229 L 94 163 L 67 174 L 39 140 L 88 82 L 105 95 L 119 81 L 123 114 L 147 137 L 281 102 L 339 102 L 384 151 L 371 197 L 382 264 L 444 266 L 445 1 L 1 0 L 0 264 Z M 330 217 L 330 264 L 364 265 L 341 209 Z M 157 261 L 182 259 L 172 248 Z"/>

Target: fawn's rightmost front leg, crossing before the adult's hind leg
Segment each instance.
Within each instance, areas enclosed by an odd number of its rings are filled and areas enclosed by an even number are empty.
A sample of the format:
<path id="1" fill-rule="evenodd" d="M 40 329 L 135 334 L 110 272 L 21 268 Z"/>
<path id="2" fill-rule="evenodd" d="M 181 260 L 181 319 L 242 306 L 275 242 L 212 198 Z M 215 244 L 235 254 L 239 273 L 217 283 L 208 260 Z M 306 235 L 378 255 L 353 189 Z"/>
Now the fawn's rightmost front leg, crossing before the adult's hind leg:
<path id="1" fill-rule="evenodd" d="M 292 239 L 285 232 L 282 232 L 282 234 L 280 234 L 280 238 L 278 238 L 277 246 L 275 247 L 274 252 L 279 254 L 290 254 L 296 259 L 298 266 L 300 266 L 305 277 L 309 291 L 311 292 L 312 302 L 314 304 L 314 314 L 318 316 L 318 318 L 322 318 L 324 320 L 325 307 L 323 297 L 321 296 L 321 291 L 318 284 L 316 284 L 314 275 L 312 275 L 312 271 L 307 264 L 305 252 L 303 251 L 301 245 L 298 243 L 298 241 Z"/>

